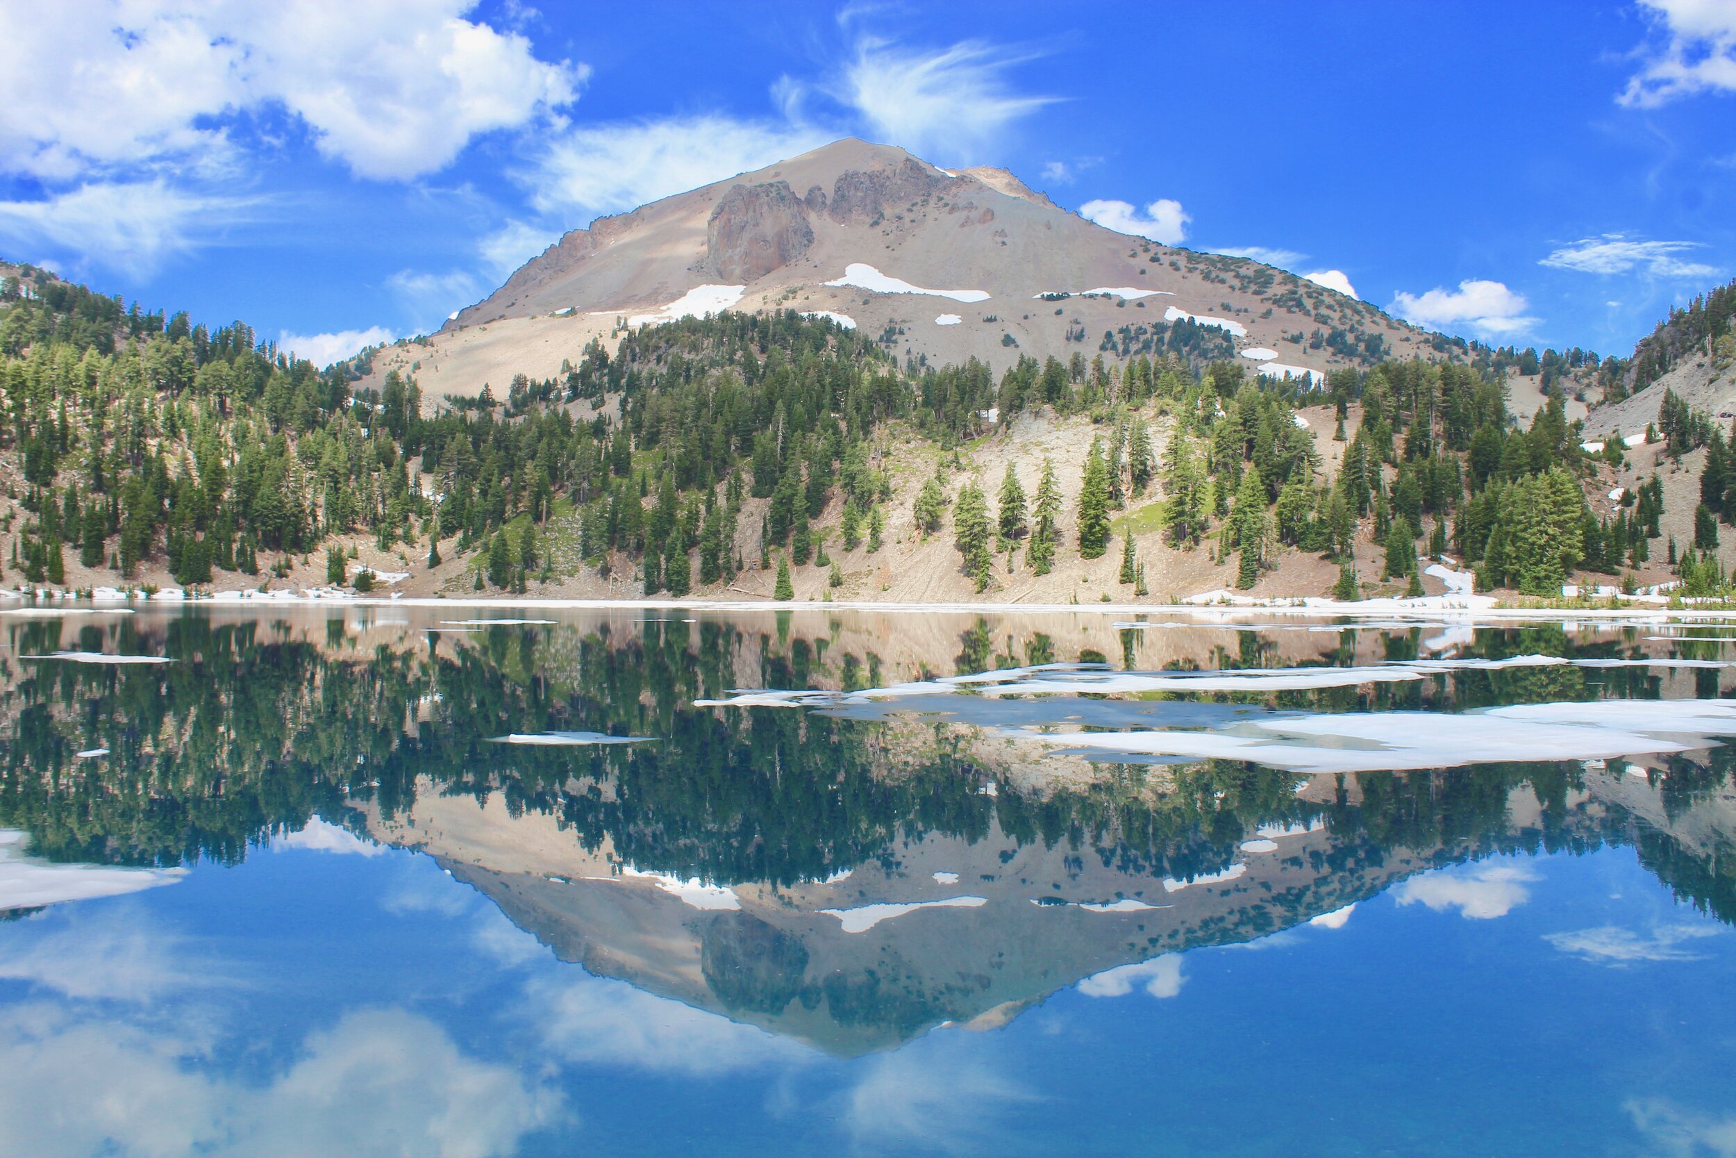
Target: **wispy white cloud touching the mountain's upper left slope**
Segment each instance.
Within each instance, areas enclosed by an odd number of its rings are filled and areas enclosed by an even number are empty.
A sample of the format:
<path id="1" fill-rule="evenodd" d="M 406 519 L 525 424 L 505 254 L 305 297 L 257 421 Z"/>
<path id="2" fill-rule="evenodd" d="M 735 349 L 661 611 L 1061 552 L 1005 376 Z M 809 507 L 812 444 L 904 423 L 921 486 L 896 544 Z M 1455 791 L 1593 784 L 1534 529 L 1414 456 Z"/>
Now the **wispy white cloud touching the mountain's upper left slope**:
<path id="1" fill-rule="evenodd" d="M 582 125 L 556 134 L 517 179 L 543 214 L 608 214 L 764 168 L 828 139 L 804 125 L 722 115 Z"/>

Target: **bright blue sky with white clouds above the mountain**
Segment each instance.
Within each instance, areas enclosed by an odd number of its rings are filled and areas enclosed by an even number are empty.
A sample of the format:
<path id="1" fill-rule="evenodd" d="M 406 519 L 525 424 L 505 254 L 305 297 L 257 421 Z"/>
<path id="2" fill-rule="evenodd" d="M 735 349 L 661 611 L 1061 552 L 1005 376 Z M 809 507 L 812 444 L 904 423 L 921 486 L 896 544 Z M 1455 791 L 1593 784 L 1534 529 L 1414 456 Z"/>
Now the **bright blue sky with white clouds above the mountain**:
<path id="1" fill-rule="evenodd" d="M 0 7 L 0 253 L 316 359 L 840 135 L 1502 344 L 1736 274 L 1736 0 Z"/>

